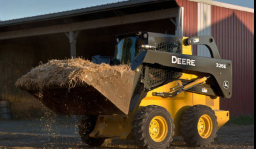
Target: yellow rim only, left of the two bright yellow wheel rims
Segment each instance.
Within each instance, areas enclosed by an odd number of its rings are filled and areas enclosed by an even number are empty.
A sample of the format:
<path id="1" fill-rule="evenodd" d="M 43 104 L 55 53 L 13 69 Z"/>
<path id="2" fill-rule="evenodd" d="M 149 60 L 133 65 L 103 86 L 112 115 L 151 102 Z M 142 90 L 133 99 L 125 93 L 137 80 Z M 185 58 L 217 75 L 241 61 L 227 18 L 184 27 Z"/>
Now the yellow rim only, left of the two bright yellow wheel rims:
<path id="1" fill-rule="evenodd" d="M 168 133 L 168 124 L 162 116 L 155 116 L 149 123 L 149 135 L 155 142 L 165 140 Z"/>

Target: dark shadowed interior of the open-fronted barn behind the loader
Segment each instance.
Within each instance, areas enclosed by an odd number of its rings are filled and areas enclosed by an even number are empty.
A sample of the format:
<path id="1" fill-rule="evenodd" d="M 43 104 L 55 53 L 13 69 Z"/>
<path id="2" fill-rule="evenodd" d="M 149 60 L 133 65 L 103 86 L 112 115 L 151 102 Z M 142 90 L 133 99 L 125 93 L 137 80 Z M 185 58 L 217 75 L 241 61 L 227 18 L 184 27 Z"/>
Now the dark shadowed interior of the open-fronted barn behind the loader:
<path id="1" fill-rule="evenodd" d="M 27 92 L 15 88 L 15 81 L 41 62 L 69 59 L 72 49 L 67 35 L 71 31 L 79 31 L 75 56 L 89 60 L 94 55 L 113 56 L 116 35 L 137 31 L 175 35 L 177 31 L 179 8 L 175 1 L 157 5 L 133 1 L 96 8 L 18 19 L 0 26 L 0 99 L 13 103 L 15 116 L 37 116 L 42 107 Z"/>

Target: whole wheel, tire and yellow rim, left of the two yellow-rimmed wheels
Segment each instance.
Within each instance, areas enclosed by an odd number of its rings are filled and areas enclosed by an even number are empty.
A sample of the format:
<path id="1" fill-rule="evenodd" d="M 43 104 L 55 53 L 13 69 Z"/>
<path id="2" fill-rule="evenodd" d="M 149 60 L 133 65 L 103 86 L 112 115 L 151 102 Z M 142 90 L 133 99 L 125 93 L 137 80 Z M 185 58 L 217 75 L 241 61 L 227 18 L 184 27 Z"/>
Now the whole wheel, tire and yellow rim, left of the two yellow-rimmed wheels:
<path id="1" fill-rule="evenodd" d="M 135 114 L 133 136 L 144 148 L 168 148 L 174 134 L 173 118 L 161 106 L 146 106 Z"/>

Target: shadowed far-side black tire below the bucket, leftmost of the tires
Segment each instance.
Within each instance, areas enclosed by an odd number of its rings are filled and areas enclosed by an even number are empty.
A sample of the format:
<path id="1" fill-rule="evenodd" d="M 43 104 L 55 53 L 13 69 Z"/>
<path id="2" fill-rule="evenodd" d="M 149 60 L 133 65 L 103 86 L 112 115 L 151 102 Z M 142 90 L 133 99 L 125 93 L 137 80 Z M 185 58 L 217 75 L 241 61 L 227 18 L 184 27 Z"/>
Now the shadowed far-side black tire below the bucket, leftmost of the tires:
<path id="1" fill-rule="evenodd" d="M 97 116 L 83 116 L 80 120 L 78 128 L 79 134 L 83 142 L 89 146 L 103 146 L 105 145 L 105 138 L 91 138 L 89 134 L 93 132 L 97 121 Z"/>

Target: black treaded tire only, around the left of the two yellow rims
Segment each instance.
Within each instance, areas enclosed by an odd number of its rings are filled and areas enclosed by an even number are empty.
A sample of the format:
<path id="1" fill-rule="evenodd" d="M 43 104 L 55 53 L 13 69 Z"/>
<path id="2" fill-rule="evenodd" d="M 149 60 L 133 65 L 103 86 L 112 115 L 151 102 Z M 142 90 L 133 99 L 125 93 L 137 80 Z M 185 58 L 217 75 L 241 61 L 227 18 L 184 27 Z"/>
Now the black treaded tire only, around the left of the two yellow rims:
<path id="1" fill-rule="evenodd" d="M 168 132 L 161 142 L 155 142 L 149 134 L 149 124 L 155 116 L 161 116 L 167 123 Z M 161 106 L 145 106 L 135 114 L 132 132 L 137 144 L 143 148 L 168 148 L 173 141 L 173 118 L 171 118 L 171 114 Z"/>

